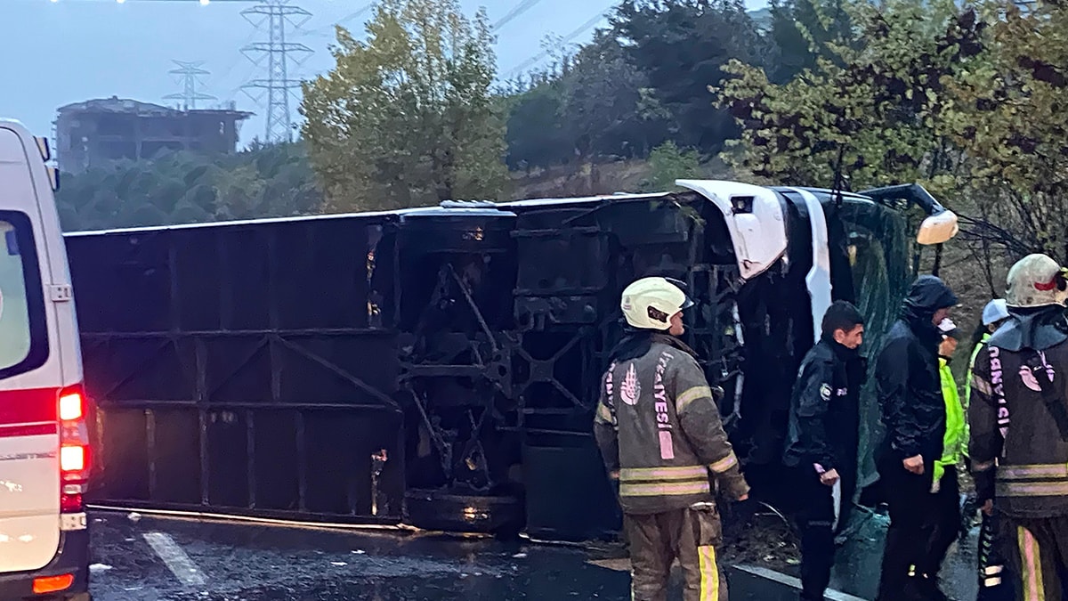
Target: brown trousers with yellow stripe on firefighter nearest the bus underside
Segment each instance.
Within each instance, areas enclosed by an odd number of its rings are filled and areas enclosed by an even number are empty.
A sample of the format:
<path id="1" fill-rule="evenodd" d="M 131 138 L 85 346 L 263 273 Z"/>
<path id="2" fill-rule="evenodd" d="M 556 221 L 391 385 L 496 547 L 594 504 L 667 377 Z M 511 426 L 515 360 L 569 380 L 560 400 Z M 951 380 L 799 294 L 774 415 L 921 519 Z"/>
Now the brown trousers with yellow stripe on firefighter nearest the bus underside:
<path id="1" fill-rule="evenodd" d="M 672 564 L 682 568 L 684 601 L 727 601 L 716 549 L 722 540 L 714 504 L 662 513 L 624 514 L 630 543 L 631 599 L 666 601 Z"/>

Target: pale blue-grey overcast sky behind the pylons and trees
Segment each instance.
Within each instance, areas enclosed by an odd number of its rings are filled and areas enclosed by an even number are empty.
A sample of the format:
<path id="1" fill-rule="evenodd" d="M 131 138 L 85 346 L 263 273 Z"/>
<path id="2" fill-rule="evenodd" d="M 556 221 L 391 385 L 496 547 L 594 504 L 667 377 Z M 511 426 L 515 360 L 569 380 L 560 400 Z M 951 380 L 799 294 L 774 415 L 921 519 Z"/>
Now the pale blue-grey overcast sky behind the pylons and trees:
<path id="1" fill-rule="evenodd" d="M 312 13 L 294 32 L 293 42 L 313 50 L 296 77 L 329 70 L 331 25 L 343 21 L 363 31 L 368 14 L 357 14 L 367 0 L 292 0 Z M 529 5 L 498 32 L 501 73 L 541 51 L 546 35 L 566 36 L 606 13 L 613 0 L 461 0 L 473 13 L 486 6 L 490 22 Z M 751 7 L 766 2 L 749 0 Z M 262 114 L 263 108 L 240 90 L 249 79 L 266 77 L 239 49 L 266 41 L 241 11 L 255 3 L 214 0 L 0 0 L 0 117 L 26 123 L 35 134 L 51 136 L 56 109 L 91 98 L 129 97 L 171 104 L 163 96 L 182 91 L 171 61 L 205 61 L 202 91 L 234 101 L 237 108 Z M 346 19 L 347 20 L 344 20 Z M 601 24 L 604 21 L 601 20 Z M 575 38 L 584 42 L 592 29 Z M 290 74 L 294 77 L 294 74 Z M 210 102 L 207 104 L 211 104 Z M 294 110 L 296 102 L 293 103 Z M 200 108 L 200 105 L 198 105 Z M 295 113 L 296 114 L 296 113 Z M 242 142 L 263 136 L 264 122 L 253 118 L 242 128 Z"/>

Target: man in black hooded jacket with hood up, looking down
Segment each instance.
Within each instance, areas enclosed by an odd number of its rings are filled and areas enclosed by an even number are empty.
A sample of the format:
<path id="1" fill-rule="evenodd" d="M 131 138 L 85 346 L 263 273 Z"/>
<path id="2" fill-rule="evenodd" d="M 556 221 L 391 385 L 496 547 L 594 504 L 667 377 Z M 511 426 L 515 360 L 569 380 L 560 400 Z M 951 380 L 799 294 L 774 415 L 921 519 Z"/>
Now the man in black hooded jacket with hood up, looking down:
<path id="1" fill-rule="evenodd" d="M 938 324 L 956 305 L 956 295 L 941 279 L 917 278 L 876 361 L 876 391 L 886 430 L 877 465 L 890 506 L 879 601 L 942 598 L 938 566 L 928 564 L 927 546 L 932 473 L 945 435 Z"/>

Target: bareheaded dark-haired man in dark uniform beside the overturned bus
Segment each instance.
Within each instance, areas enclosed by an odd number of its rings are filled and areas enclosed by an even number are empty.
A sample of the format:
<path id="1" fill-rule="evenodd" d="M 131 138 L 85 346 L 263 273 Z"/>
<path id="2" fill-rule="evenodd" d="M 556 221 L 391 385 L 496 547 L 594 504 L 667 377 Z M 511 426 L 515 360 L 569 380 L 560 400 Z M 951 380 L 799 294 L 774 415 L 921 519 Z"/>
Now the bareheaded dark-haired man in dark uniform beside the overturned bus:
<path id="1" fill-rule="evenodd" d="M 822 337 L 801 361 L 790 400 L 783 463 L 794 473 L 801 530 L 801 599 L 822 601 L 834 565 L 834 530 L 857 482 L 861 382 L 847 364 L 860 357 L 864 318 L 836 300 L 823 314 Z"/>

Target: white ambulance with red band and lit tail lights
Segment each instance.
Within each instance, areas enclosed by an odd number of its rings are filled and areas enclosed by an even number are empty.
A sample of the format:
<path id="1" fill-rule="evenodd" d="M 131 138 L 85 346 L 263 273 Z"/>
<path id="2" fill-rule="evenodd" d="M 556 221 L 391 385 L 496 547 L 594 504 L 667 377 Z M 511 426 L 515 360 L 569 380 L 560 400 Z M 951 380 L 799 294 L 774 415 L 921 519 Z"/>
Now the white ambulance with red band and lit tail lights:
<path id="1" fill-rule="evenodd" d="M 90 599 L 90 407 L 49 158 L 0 120 L 0 601 Z"/>

